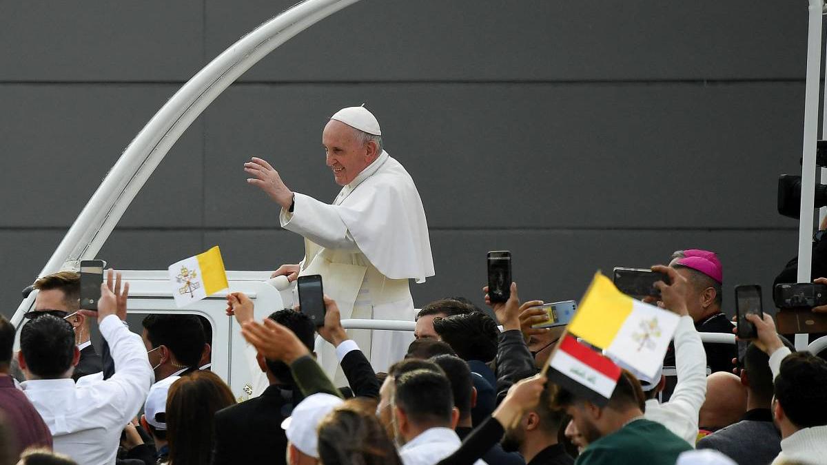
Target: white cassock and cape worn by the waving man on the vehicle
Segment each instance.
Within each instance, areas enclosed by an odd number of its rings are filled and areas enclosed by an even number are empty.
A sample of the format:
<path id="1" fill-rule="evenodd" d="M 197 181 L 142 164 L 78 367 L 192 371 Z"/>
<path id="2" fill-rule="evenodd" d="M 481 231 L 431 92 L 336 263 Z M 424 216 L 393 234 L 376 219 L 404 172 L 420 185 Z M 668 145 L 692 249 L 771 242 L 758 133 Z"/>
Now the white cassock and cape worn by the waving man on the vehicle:
<path id="1" fill-rule="evenodd" d="M 399 161 L 381 155 L 342 188 L 333 204 L 295 193 L 293 213 L 281 210 L 281 226 L 304 237 L 299 276 L 322 275 L 324 292 L 342 319 L 413 321 L 408 280 L 433 276 L 433 257 L 422 200 Z M 373 333 L 373 334 L 371 334 Z M 404 357 L 414 333 L 350 330 L 376 372 Z M 331 344 L 317 343 L 329 374 L 338 360 Z M 336 381 L 344 378 L 339 372 Z M 341 386 L 341 385 L 340 385 Z"/>

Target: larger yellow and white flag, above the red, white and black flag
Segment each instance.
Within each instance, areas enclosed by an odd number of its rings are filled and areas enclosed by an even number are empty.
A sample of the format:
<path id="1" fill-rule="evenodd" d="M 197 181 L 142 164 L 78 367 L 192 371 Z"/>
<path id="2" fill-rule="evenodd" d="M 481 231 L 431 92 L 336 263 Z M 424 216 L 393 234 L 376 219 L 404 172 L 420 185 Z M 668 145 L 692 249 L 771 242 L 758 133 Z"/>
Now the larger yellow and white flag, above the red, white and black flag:
<path id="1" fill-rule="evenodd" d="M 672 312 L 625 295 L 597 272 L 568 331 L 653 377 L 663 363 L 679 320 Z"/>

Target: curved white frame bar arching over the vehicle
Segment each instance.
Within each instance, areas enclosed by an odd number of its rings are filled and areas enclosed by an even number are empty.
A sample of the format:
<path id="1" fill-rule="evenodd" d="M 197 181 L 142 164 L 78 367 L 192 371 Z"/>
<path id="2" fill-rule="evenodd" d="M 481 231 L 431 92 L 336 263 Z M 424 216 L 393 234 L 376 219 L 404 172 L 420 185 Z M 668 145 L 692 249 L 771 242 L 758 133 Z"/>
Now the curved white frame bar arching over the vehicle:
<path id="1" fill-rule="evenodd" d="M 305 0 L 297 3 L 241 37 L 203 70 L 198 71 L 155 113 L 127 146 L 127 150 L 123 151 L 74 220 L 69 232 L 66 232 L 40 276 L 76 267 L 80 260 L 93 259 L 170 148 L 224 89 L 276 47 L 332 13 L 358 1 Z M 17 307 L 12 324 L 20 324 L 23 313 L 31 307 L 35 295 L 36 292 L 32 292 Z"/>

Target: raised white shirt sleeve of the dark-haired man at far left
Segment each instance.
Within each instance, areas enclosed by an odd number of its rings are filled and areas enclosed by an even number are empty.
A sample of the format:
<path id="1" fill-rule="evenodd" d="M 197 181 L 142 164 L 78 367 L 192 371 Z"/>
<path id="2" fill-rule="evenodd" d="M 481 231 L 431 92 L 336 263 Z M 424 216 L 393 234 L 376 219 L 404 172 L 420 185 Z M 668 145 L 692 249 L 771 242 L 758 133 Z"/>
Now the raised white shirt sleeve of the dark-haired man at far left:
<path id="1" fill-rule="evenodd" d="M 131 333 L 116 315 L 104 318 L 100 331 L 115 362 L 115 374 L 100 384 L 114 388 L 112 405 L 123 415 L 122 424 L 127 424 L 144 405 L 152 384 L 152 367 L 141 336 Z"/>

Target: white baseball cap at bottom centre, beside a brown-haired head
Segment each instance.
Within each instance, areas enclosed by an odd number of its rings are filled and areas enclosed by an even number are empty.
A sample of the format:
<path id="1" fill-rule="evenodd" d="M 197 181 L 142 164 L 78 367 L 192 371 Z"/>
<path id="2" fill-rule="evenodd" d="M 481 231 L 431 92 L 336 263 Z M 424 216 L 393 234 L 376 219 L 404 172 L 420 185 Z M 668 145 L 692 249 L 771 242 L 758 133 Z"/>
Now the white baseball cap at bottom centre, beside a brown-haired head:
<path id="1" fill-rule="evenodd" d="M 344 400 L 336 395 L 313 394 L 296 405 L 293 414 L 284 419 L 281 428 L 287 439 L 305 455 L 318 458 L 318 424 Z"/>

